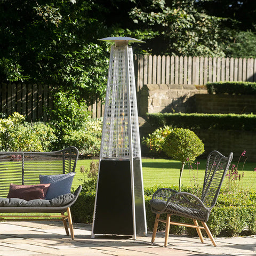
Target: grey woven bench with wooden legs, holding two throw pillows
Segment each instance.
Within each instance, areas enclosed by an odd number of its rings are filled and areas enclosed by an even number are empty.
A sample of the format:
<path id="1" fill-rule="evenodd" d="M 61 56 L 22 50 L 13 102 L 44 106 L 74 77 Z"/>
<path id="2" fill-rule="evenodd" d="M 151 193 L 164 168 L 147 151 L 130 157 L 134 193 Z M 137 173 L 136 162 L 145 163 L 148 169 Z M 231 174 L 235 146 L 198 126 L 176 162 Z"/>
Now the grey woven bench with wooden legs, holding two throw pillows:
<path id="1" fill-rule="evenodd" d="M 70 230 L 71 238 L 74 239 L 70 206 L 75 203 L 79 193 L 81 192 L 82 186 L 79 186 L 74 194 L 71 194 L 69 190 L 69 193 L 59 195 L 54 198 L 47 198 L 46 192 L 45 199 L 26 200 L 21 199 L 22 196 L 21 198 L 19 196 L 17 196 L 17 198 L 14 196 L 10 197 L 10 193 L 11 186 L 14 186 L 15 188 L 16 185 L 18 185 L 17 187 L 33 188 L 37 188 L 38 186 L 37 190 L 41 193 L 42 189 L 40 183 L 49 183 L 45 185 L 43 184 L 42 186 L 45 186 L 47 191 L 50 192 L 51 182 L 40 182 L 40 180 L 42 179 L 44 181 L 44 179 L 52 179 L 52 182 L 55 182 L 54 179 L 56 180 L 61 177 L 62 179 L 67 178 L 66 180 L 69 182 L 69 178 L 73 176 L 73 173 L 75 172 L 77 159 L 78 150 L 75 147 L 69 147 L 54 152 L 0 152 L 0 213 L 60 213 L 59 215 L 1 214 L 0 221 L 61 220 L 65 227 L 66 234 L 69 235 Z M 41 176 L 40 178 L 39 175 Z M 71 182 L 73 178 L 71 179 Z M 54 189 L 51 190 L 51 193 L 53 193 L 51 196 L 54 196 L 54 193 L 57 193 L 57 191 L 55 191 L 55 187 L 53 188 Z M 62 194 L 61 189 L 65 191 L 65 187 L 60 188 L 60 194 Z M 15 191 L 19 191 L 18 193 L 20 193 L 22 190 L 14 190 L 14 193 Z M 35 194 L 34 190 L 32 193 Z M 7 196 L 9 196 L 9 198 L 6 198 Z"/>

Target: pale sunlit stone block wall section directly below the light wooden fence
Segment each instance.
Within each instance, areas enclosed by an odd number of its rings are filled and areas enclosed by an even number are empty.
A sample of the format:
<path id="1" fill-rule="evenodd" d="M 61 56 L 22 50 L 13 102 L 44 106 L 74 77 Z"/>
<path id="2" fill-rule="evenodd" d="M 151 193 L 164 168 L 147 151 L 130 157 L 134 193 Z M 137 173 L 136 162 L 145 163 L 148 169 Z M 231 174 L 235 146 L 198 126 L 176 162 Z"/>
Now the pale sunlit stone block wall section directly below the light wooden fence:
<path id="1" fill-rule="evenodd" d="M 146 84 L 139 97 L 139 114 L 146 113 L 193 113 L 196 111 L 195 94 L 207 93 L 195 85 Z"/>

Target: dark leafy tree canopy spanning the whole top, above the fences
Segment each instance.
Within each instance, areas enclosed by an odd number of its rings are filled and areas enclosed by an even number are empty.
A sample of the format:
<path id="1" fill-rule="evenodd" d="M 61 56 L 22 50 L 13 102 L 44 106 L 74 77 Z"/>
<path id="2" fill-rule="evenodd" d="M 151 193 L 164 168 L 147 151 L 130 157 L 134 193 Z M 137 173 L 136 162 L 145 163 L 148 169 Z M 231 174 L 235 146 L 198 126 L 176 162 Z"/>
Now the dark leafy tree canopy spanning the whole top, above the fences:
<path id="1" fill-rule="evenodd" d="M 1 82 L 46 83 L 103 97 L 107 36 L 146 41 L 135 53 L 256 57 L 256 2 L 2 0 Z"/>

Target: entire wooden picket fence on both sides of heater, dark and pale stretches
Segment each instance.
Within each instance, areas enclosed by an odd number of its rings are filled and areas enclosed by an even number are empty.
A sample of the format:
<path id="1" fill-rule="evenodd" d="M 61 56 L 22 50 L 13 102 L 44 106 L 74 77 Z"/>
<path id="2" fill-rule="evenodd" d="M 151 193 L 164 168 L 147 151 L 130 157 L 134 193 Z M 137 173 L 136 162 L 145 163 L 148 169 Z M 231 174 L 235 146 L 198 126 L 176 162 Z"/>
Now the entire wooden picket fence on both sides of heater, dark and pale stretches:
<path id="1" fill-rule="evenodd" d="M 256 82 L 256 59 L 174 57 L 138 55 L 134 61 L 137 91 L 143 84 L 195 84 L 218 81 Z M 0 86 L 0 113 L 7 116 L 14 111 L 27 121 L 47 121 L 47 111 L 53 108 L 53 93 L 49 85 L 2 84 Z M 138 105 L 139 105 L 138 99 Z M 102 117 L 104 106 L 95 97 L 88 108 L 92 117 Z"/>

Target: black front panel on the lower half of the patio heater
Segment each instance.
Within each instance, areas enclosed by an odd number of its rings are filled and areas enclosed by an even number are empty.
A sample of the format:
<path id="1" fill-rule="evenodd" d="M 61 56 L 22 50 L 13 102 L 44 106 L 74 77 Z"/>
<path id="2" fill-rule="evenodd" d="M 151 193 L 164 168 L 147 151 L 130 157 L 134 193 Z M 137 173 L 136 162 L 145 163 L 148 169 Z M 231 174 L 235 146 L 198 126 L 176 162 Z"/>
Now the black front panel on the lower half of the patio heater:
<path id="1" fill-rule="evenodd" d="M 131 164 L 101 160 L 93 234 L 133 235 Z"/>

